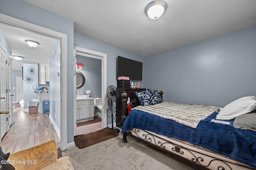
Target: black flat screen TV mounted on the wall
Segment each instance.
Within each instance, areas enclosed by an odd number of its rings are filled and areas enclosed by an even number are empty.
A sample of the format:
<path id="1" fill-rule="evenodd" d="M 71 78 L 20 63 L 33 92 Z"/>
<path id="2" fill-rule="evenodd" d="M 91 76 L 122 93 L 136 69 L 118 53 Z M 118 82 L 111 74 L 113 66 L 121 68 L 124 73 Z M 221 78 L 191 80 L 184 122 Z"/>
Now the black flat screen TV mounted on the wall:
<path id="1" fill-rule="evenodd" d="M 130 77 L 130 80 L 142 80 L 142 62 L 118 56 L 116 79 L 121 76 Z"/>

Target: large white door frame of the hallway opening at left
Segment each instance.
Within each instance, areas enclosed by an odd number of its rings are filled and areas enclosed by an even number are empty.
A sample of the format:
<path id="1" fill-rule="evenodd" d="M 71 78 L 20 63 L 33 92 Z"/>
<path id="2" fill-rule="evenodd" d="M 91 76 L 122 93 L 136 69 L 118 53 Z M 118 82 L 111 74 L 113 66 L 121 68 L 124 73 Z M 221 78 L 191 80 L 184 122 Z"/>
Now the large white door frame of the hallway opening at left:
<path id="1" fill-rule="evenodd" d="M 0 23 L 60 40 L 60 148 L 74 146 L 67 141 L 67 35 L 4 14 L 0 14 Z"/>

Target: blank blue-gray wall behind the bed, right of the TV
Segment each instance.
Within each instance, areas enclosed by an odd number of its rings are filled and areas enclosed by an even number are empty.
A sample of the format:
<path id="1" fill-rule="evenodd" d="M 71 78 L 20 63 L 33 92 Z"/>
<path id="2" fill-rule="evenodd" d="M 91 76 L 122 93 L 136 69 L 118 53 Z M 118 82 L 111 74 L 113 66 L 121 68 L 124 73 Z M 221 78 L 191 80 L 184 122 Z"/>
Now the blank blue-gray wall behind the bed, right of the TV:
<path id="1" fill-rule="evenodd" d="M 146 85 L 164 100 L 225 106 L 256 95 L 256 26 L 147 57 Z"/>

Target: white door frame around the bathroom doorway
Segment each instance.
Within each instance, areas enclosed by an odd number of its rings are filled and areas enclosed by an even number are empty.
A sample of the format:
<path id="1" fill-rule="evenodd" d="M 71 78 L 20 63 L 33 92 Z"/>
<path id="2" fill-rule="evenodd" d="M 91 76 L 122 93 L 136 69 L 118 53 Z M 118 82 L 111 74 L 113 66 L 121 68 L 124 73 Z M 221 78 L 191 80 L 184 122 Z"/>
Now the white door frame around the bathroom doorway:
<path id="1" fill-rule="evenodd" d="M 74 49 L 76 55 L 101 60 L 101 94 L 102 94 L 102 129 L 107 127 L 107 54 L 82 47 Z M 76 61 L 75 61 L 76 62 Z M 74 71 L 76 68 L 74 67 Z M 76 83 L 76 81 L 74 81 Z M 74 85 L 74 99 L 76 99 L 76 85 Z M 76 135 L 76 100 L 74 100 L 74 136 Z"/>

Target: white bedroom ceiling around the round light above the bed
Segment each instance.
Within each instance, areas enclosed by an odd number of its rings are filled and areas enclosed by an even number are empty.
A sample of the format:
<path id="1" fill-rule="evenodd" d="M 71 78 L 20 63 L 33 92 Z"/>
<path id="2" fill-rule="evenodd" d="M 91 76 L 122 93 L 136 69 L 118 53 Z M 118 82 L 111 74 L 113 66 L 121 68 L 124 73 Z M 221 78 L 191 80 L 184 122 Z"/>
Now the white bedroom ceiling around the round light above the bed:
<path id="1" fill-rule="evenodd" d="M 25 0 L 74 21 L 74 32 L 144 56 L 256 25 L 256 0 L 165 0 L 151 20 L 152 0 Z"/>

